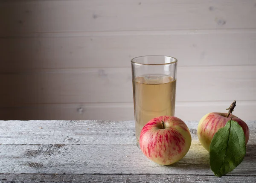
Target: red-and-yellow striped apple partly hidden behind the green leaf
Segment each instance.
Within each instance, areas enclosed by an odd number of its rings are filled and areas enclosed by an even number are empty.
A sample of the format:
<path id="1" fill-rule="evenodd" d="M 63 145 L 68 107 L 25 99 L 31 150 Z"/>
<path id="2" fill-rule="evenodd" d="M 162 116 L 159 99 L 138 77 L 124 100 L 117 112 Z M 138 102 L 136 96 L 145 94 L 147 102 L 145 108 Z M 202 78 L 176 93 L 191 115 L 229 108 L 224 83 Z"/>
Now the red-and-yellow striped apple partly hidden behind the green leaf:
<path id="1" fill-rule="evenodd" d="M 198 139 L 207 151 L 209 151 L 214 134 L 220 128 L 223 128 L 230 119 L 231 115 L 227 117 L 227 113 L 208 113 L 200 120 L 197 131 Z M 245 144 L 247 144 L 250 135 L 247 124 L 233 114 L 232 120 L 238 122 L 238 124 L 243 128 Z"/>

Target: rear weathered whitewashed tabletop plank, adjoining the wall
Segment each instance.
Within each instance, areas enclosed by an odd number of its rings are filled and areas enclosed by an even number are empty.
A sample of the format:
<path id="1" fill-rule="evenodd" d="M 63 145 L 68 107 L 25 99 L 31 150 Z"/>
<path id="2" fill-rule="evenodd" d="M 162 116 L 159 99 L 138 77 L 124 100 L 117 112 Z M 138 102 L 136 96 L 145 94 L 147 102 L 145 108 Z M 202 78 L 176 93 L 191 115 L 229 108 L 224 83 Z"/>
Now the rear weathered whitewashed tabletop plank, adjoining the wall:
<path id="1" fill-rule="evenodd" d="M 187 121 L 194 144 L 198 122 Z M 256 122 L 247 121 L 249 144 L 256 144 Z M 0 144 L 94 144 L 134 145 L 134 121 L 0 121 Z"/>

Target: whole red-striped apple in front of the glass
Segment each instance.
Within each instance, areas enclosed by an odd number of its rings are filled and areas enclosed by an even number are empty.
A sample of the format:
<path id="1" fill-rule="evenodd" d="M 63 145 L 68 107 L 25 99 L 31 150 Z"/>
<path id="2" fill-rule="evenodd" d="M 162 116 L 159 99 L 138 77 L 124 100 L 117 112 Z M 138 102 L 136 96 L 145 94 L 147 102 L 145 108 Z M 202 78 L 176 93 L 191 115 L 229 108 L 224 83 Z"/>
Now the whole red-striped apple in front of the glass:
<path id="1" fill-rule="evenodd" d="M 170 165 L 181 160 L 189 151 L 190 145 L 189 128 L 175 116 L 151 119 L 140 133 L 141 151 L 150 160 L 161 165 Z"/>

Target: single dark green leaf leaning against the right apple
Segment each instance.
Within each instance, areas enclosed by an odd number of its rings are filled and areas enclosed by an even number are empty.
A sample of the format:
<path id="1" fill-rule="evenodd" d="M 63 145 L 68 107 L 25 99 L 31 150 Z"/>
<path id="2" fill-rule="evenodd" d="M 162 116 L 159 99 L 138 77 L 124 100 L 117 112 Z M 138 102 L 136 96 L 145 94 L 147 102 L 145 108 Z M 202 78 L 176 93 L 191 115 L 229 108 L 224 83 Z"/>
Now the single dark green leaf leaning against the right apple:
<path id="1" fill-rule="evenodd" d="M 244 159 L 246 151 L 243 128 L 235 121 L 228 121 L 212 138 L 210 166 L 215 176 L 232 171 Z"/>

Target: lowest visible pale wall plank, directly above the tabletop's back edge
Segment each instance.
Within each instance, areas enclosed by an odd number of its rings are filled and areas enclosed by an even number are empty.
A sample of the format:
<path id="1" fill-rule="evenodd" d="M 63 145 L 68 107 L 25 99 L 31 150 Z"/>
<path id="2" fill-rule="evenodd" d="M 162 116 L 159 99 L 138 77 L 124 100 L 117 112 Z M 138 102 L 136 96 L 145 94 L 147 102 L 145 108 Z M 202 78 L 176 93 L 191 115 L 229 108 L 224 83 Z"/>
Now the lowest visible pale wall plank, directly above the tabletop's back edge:
<path id="1" fill-rule="evenodd" d="M 232 101 L 231 101 L 232 102 Z M 182 120 L 199 121 L 210 112 L 227 112 L 230 101 L 225 102 L 176 102 L 175 116 Z M 237 101 L 234 111 L 243 120 L 253 120 L 256 102 Z M 133 103 L 77 103 L 77 104 L 38 104 L 17 107 L 1 107 L 1 120 L 133 120 Z"/>

